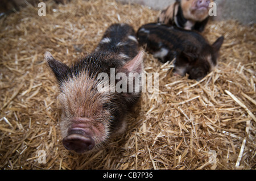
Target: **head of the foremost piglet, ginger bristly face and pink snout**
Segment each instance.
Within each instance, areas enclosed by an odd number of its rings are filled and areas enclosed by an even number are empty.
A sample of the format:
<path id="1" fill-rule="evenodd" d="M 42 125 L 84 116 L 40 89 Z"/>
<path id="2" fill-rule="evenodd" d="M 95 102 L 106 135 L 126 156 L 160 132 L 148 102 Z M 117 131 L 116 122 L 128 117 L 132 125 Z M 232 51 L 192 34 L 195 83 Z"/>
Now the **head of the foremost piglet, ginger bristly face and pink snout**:
<path id="1" fill-rule="evenodd" d="M 115 133 L 125 130 L 127 105 L 133 99 L 126 99 L 129 95 L 122 92 L 98 90 L 101 81 L 97 75 L 101 73 L 101 68 L 108 70 L 100 64 L 112 61 L 111 58 L 113 56 L 91 55 L 83 60 L 85 62 L 80 61 L 79 65 L 69 67 L 55 60 L 51 53 L 45 54 L 46 62 L 59 84 L 62 108 L 60 131 L 67 150 L 86 153 L 104 148 Z M 120 70 L 141 71 L 142 58 L 136 56 L 122 65 Z"/>

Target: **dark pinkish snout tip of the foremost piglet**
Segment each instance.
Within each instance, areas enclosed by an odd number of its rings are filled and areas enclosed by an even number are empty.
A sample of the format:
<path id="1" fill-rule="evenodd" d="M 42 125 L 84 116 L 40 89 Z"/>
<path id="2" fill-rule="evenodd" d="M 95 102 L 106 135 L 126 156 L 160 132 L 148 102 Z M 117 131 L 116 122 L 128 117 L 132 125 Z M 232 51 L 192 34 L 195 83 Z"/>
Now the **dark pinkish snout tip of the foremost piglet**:
<path id="1" fill-rule="evenodd" d="M 67 150 L 74 150 L 76 153 L 84 153 L 92 150 L 95 142 L 90 136 L 87 136 L 83 131 L 73 131 L 68 136 L 64 137 L 63 145 Z"/>

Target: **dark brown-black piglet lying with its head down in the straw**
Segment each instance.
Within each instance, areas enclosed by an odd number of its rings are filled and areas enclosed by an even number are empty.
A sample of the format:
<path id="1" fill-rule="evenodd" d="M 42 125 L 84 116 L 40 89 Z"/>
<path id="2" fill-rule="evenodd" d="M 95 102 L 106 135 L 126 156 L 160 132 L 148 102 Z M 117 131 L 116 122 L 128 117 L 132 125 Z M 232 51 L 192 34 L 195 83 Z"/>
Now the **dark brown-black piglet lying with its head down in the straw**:
<path id="1" fill-rule="evenodd" d="M 212 45 L 195 31 L 181 30 L 160 23 L 145 24 L 137 32 L 139 44 L 161 62 L 176 58 L 174 72 L 189 74 L 199 81 L 217 65 L 217 56 L 224 41 L 219 37 Z"/>

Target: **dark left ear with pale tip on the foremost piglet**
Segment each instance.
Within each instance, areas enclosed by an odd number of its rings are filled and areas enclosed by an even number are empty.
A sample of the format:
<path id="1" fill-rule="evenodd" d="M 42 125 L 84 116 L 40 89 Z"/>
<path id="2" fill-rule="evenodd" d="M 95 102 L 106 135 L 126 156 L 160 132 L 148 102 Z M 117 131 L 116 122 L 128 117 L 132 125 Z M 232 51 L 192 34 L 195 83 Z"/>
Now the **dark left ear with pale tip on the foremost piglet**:
<path id="1" fill-rule="evenodd" d="M 58 60 L 55 60 L 52 57 L 52 54 L 49 52 L 46 52 L 44 54 L 44 59 L 46 60 L 49 67 L 52 69 L 53 73 L 55 74 L 57 81 L 62 82 L 63 78 L 67 75 L 69 71 L 69 67 L 64 63 Z"/>

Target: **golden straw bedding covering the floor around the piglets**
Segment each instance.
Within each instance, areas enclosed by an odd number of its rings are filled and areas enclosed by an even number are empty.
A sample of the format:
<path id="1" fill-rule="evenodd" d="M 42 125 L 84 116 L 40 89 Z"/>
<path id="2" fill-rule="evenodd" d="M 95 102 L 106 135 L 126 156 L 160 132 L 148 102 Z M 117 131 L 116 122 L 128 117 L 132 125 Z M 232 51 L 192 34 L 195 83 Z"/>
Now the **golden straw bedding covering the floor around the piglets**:
<path id="1" fill-rule="evenodd" d="M 112 0 L 74 0 L 47 2 L 46 16 L 28 6 L 1 19 L 0 167 L 255 169 L 256 31 L 234 20 L 210 22 L 204 32 L 210 43 L 225 36 L 218 66 L 207 77 L 174 76 L 172 64 L 146 53 L 145 71 L 159 73 L 157 98 L 143 93 L 127 131 L 107 149 L 87 155 L 64 149 L 57 85 L 44 52 L 71 65 L 96 47 L 111 23 L 138 30 L 158 14 Z M 45 163 L 38 162 L 39 150 L 46 151 Z"/>

